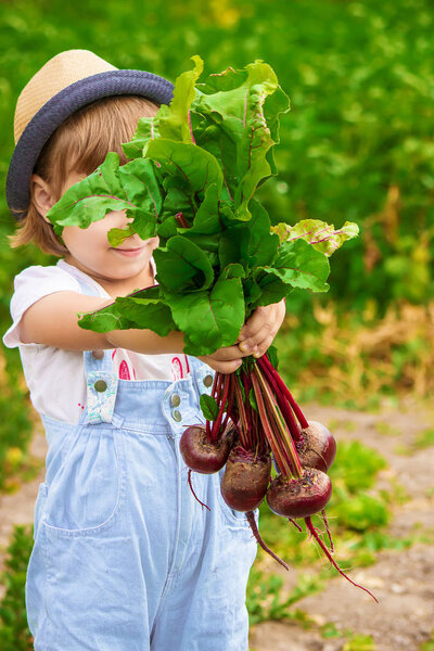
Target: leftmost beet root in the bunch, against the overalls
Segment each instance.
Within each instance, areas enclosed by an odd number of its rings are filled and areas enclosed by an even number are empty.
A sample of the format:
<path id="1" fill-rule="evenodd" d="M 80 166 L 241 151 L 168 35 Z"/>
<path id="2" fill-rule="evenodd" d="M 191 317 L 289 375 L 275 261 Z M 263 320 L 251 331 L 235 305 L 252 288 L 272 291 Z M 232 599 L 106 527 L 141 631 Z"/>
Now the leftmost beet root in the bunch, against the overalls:
<path id="1" fill-rule="evenodd" d="M 231 434 L 224 435 L 216 443 L 208 441 L 202 425 L 191 425 L 184 430 L 179 448 L 186 465 L 202 474 L 213 474 L 225 465 L 232 444 Z"/>

